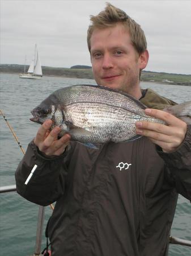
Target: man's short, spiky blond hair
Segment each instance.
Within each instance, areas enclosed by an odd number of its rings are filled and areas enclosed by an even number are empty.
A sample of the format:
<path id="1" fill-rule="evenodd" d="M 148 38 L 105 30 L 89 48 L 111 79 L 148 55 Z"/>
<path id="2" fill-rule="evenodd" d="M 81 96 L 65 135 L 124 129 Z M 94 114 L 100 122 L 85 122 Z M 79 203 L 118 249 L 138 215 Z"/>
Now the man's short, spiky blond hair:
<path id="1" fill-rule="evenodd" d="M 141 55 L 147 49 L 147 42 L 145 33 L 141 26 L 131 19 L 125 11 L 122 11 L 111 3 L 107 3 L 104 11 L 101 11 L 98 15 L 90 16 L 91 25 L 88 27 L 87 31 L 87 44 L 88 49 L 91 51 L 91 35 L 95 28 L 107 28 L 115 26 L 117 23 L 121 23 L 124 27 L 128 28 L 131 37 L 131 43 L 137 51 L 138 55 Z"/>

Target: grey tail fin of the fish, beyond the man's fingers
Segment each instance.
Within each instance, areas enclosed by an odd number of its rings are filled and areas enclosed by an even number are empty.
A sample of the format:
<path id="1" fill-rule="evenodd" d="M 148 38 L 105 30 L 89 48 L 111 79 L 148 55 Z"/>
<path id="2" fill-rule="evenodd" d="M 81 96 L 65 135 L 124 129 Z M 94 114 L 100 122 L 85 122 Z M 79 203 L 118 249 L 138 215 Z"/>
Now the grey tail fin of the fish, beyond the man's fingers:
<path id="1" fill-rule="evenodd" d="M 181 119 L 187 125 L 191 125 L 191 101 L 186 101 L 175 106 L 167 106 L 163 110 L 175 115 L 175 117 Z"/>

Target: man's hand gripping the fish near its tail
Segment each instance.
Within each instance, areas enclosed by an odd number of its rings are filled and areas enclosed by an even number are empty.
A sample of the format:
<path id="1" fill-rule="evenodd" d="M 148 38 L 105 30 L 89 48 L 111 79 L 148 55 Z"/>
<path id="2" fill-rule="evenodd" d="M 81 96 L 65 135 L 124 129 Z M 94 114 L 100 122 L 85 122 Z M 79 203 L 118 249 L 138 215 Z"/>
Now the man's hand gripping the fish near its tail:
<path id="1" fill-rule="evenodd" d="M 175 151 L 184 141 L 186 123 L 174 115 L 157 109 L 146 109 L 151 117 L 162 119 L 166 125 L 151 122 L 137 122 L 136 133 L 148 137 L 152 142 L 162 147 L 164 152 Z"/>

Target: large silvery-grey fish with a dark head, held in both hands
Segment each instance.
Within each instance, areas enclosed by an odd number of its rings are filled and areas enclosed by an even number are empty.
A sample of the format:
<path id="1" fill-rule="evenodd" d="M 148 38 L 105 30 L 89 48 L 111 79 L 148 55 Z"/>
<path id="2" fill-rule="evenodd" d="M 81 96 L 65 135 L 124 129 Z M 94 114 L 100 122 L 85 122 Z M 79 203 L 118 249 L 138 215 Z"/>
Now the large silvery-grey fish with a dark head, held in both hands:
<path id="1" fill-rule="evenodd" d="M 176 112 L 179 112 L 177 105 Z M 135 123 L 164 121 L 145 114 L 141 101 L 117 89 L 100 85 L 72 85 L 58 89 L 31 111 L 31 121 L 44 123 L 51 119 L 61 128 L 59 136 L 69 133 L 71 140 L 94 147 L 95 143 L 129 142 L 139 139 Z M 168 106 L 173 112 L 174 106 Z M 191 101 L 184 104 L 184 117 L 191 121 Z M 191 123 L 191 122 L 190 122 Z"/>

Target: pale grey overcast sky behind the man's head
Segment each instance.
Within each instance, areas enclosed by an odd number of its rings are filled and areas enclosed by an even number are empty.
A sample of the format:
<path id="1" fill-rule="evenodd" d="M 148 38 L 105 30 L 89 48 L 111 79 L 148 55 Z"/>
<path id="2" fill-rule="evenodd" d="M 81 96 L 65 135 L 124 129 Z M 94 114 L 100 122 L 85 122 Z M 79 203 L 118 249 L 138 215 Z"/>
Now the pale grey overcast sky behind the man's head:
<path id="1" fill-rule="evenodd" d="M 191 1 L 0 0 L 1 63 L 31 62 L 37 43 L 41 64 L 91 65 L 86 34 L 90 15 L 105 2 L 124 10 L 145 31 L 148 71 L 191 74 Z"/>

